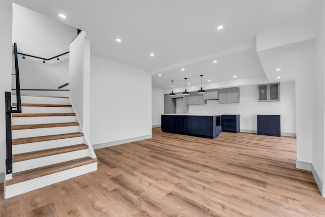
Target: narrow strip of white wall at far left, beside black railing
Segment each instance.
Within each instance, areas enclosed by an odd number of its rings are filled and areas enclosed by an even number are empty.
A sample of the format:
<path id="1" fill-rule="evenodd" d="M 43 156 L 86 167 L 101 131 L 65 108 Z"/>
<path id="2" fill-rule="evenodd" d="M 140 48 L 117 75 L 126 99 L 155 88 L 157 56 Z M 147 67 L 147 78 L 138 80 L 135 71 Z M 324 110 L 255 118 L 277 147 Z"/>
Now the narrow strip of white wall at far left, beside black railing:
<path id="1" fill-rule="evenodd" d="M 0 182 L 6 171 L 5 92 L 11 91 L 12 12 L 0 7 Z"/>

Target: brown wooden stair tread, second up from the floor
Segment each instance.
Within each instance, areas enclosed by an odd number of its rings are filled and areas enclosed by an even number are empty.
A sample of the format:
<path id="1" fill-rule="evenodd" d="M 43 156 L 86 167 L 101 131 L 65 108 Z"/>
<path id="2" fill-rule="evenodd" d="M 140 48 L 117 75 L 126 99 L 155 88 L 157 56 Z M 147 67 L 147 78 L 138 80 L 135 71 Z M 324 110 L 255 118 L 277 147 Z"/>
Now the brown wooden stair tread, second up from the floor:
<path id="1" fill-rule="evenodd" d="M 19 161 L 26 161 L 30 159 L 42 158 L 46 156 L 51 156 L 51 155 L 66 153 L 71 151 L 77 151 L 77 150 L 82 150 L 87 148 L 88 145 L 78 144 L 78 145 L 50 148 L 50 149 L 39 150 L 39 151 L 31 151 L 26 153 L 13 154 L 12 162 L 14 163 Z"/>

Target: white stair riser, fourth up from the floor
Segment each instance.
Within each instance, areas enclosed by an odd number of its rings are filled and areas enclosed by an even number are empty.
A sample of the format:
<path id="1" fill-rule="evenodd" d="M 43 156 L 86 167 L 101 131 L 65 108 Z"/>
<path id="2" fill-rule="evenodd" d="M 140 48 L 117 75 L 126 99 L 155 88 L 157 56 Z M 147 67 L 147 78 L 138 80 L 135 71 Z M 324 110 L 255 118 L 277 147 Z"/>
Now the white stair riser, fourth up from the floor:
<path id="1" fill-rule="evenodd" d="M 26 138 L 26 137 L 48 136 L 48 135 L 78 133 L 78 132 L 79 132 L 79 126 L 13 130 L 12 138 L 18 139 L 18 138 Z"/>

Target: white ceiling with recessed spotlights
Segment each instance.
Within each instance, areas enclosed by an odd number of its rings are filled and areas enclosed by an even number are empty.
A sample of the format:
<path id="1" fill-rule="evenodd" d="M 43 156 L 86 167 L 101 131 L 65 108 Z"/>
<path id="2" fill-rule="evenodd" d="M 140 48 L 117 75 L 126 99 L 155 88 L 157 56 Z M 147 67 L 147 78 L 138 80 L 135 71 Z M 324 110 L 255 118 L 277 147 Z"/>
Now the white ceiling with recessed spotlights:
<path id="1" fill-rule="evenodd" d="M 171 80 L 175 87 L 184 86 L 185 77 L 198 85 L 201 74 L 203 83 L 265 75 L 256 35 L 312 21 L 321 0 L 12 2 L 85 30 L 94 55 L 145 70 L 152 74 L 153 87 L 169 89 Z M 224 28 L 217 30 L 218 25 Z"/>

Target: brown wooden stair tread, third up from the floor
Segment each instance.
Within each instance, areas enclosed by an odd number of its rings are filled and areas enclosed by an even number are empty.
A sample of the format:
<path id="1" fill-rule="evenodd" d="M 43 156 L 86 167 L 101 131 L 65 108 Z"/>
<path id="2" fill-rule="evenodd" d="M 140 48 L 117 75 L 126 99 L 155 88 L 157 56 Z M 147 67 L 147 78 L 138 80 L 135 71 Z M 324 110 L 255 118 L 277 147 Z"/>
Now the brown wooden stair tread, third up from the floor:
<path id="1" fill-rule="evenodd" d="M 26 137 L 26 138 L 13 139 L 12 144 L 18 145 L 24 143 L 42 142 L 42 141 L 49 141 L 55 139 L 66 139 L 66 138 L 73 138 L 73 137 L 80 137 L 80 136 L 83 136 L 83 133 L 67 133 L 67 134 L 57 134 L 57 135 L 49 135 L 49 136 Z"/>

